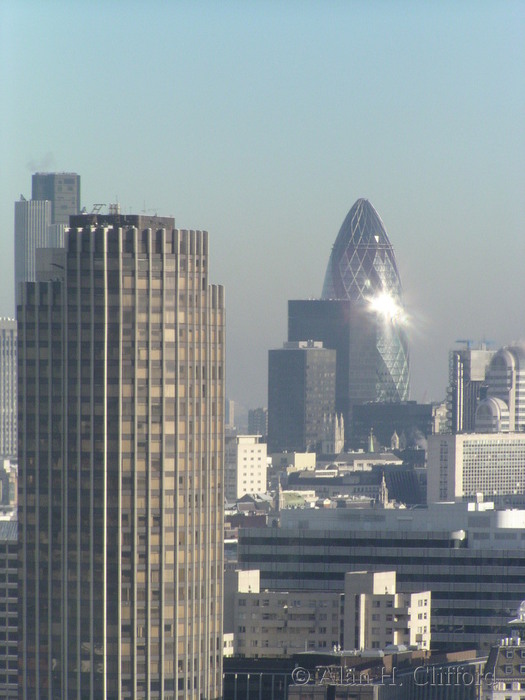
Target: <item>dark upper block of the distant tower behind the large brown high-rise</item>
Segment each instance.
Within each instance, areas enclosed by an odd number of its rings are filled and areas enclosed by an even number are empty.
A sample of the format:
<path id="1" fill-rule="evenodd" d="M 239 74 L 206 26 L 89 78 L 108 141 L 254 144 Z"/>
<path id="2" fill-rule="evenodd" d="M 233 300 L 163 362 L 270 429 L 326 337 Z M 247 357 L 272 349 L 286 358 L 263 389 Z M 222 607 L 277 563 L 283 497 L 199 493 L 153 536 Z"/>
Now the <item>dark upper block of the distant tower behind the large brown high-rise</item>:
<path id="1" fill-rule="evenodd" d="M 51 223 L 69 224 L 69 217 L 80 213 L 80 175 L 76 173 L 35 173 L 32 199 L 51 202 Z"/>

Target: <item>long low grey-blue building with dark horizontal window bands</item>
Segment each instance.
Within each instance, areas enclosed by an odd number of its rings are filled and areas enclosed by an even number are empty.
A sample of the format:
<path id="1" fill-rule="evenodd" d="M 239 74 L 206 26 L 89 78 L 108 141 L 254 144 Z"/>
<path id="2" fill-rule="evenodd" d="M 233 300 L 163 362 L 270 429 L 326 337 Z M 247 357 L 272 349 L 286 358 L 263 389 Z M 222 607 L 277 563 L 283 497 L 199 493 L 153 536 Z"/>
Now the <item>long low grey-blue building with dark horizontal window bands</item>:
<path id="1" fill-rule="evenodd" d="M 281 527 L 241 530 L 238 558 L 261 588 L 340 591 L 348 571 L 396 572 L 431 591 L 435 649 L 488 653 L 523 597 L 525 511 L 489 504 L 415 509 L 288 509 Z"/>

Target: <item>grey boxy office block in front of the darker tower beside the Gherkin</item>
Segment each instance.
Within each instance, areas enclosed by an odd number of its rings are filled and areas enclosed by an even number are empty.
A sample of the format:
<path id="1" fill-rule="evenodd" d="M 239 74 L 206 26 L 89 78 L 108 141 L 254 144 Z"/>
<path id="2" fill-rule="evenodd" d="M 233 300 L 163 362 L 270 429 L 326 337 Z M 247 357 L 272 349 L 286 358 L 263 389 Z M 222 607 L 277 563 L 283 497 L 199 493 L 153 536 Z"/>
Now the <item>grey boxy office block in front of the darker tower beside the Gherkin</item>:
<path id="1" fill-rule="evenodd" d="M 268 452 L 315 452 L 335 413 L 335 352 L 285 343 L 268 356 Z"/>

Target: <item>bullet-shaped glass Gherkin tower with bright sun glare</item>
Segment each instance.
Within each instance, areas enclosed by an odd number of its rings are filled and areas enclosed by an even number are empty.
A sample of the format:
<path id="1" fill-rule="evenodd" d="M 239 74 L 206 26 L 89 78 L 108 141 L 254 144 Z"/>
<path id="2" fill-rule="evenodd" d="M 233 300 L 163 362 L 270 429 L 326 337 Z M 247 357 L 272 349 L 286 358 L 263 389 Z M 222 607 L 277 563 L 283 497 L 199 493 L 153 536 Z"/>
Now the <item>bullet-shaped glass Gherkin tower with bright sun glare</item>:
<path id="1" fill-rule="evenodd" d="M 366 199 L 348 212 L 326 270 L 323 299 L 352 302 L 350 404 L 406 401 L 408 339 L 401 280 L 383 222 Z"/>

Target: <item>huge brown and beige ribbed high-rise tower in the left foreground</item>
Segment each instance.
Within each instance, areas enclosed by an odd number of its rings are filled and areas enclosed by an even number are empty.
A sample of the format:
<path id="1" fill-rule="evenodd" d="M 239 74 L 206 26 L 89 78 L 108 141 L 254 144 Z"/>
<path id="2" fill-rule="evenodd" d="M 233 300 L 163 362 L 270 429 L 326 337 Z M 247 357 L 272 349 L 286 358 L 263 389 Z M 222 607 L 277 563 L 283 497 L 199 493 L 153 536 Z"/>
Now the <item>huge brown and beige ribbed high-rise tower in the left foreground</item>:
<path id="1" fill-rule="evenodd" d="M 72 217 L 23 286 L 23 700 L 222 694 L 223 289 L 174 223 Z"/>

